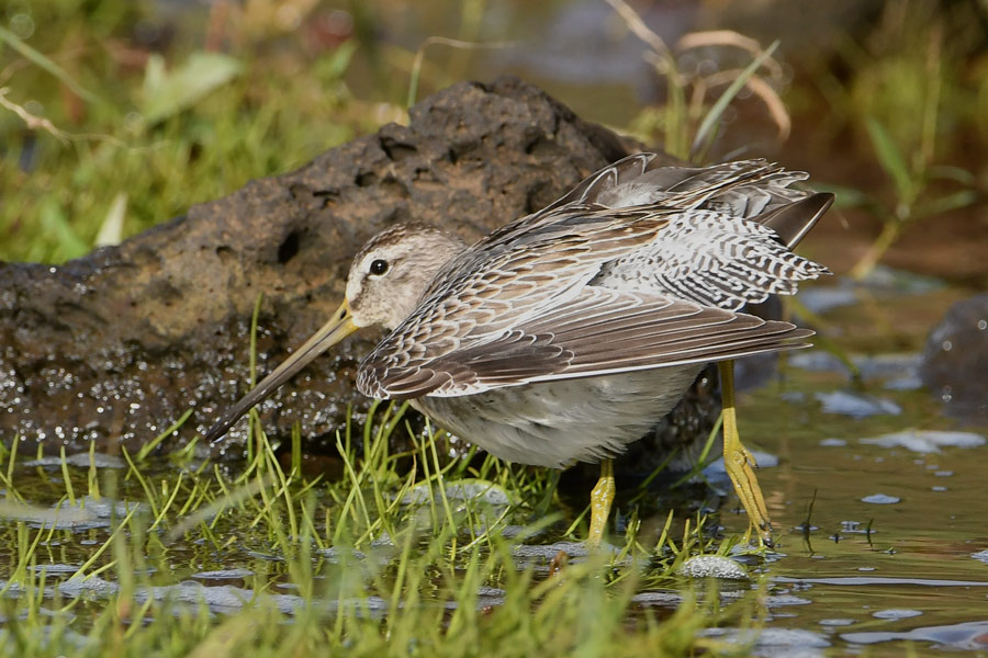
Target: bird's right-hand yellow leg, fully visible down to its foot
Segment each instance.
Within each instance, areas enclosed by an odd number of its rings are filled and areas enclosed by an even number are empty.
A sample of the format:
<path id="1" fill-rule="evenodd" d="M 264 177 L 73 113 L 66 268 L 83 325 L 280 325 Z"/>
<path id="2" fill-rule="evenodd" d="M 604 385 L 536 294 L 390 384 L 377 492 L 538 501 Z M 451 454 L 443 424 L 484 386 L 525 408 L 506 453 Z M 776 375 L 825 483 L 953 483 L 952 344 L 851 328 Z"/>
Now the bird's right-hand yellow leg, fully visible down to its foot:
<path id="1" fill-rule="evenodd" d="M 756 466 L 754 457 L 741 443 L 738 433 L 738 411 L 734 407 L 734 362 L 721 361 L 717 364 L 720 371 L 720 396 L 723 407 L 723 466 L 727 469 L 734 491 L 748 512 L 748 533 L 745 541 L 751 536 L 752 527 L 756 529 L 759 543 L 772 545 L 772 523 L 768 521 L 768 509 L 762 497 L 762 488 L 759 478 L 755 477 L 752 466 Z"/>

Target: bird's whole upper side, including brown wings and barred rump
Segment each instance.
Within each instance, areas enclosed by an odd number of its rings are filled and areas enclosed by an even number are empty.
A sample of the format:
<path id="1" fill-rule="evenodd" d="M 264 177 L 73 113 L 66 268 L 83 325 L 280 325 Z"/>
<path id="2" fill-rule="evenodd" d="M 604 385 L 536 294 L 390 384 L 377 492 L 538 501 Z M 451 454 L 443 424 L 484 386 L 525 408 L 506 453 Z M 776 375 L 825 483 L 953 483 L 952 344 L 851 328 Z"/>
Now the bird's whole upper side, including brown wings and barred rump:
<path id="1" fill-rule="evenodd" d="M 805 345 L 809 332 L 730 311 L 826 272 L 788 245 L 829 198 L 763 160 L 653 160 L 616 162 L 453 258 L 361 365 L 361 390 L 472 395 Z"/>

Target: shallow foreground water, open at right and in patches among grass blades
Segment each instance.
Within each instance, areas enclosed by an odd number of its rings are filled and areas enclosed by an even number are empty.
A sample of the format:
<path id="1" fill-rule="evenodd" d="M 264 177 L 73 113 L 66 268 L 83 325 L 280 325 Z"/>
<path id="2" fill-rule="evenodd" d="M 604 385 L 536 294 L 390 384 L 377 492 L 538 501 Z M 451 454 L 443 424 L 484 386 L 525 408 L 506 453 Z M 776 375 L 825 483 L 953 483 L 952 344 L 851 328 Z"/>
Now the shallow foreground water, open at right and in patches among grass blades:
<path id="1" fill-rule="evenodd" d="M 824 352 L 802 353 L 770 385 L 742 397 L 742 435 L 770 457 L 763 457 L 759 477 L 777 545 L 764 558 L 742 557 L 740 568 L 751 580 L 722 586 L 719 593 L 730 602 L 763 588 L 757 608 L 764 614 L 764 629 L 728 626 L 708 633 L 753 643 L 753 650 L 763 656 L 858 653 L 865 647 L 899 650 L 907 643 L 914 643 L 923 655 L 988 650 L 988 525 L 979 512 L 988 470 L 985 434 L 977 429 L 958 431 L 924 390 L 886 386 L 914 368 L 913 358 L 871 358 L 860 363 L 869 376 L 855 387 Z M 877 412 L 863 413 L 862 400 L 883 402 Z M 35 492 L 30 502 L 52 503 L 64 491 L 60 468 L 49 462 L 24 460 L 16 468 L 18 489 Z M 113 460 L 97 463 L 120 466 Z M 87 464 L 81 457 L 70 461 L 77 488 L 83 486 L 79 476 Z M 717 469 L 708 475 L 716 478 Z M 177 476 L 177 469 L 166 467 L 153 478 Z M 451 504 L 459 506 L 471 487 L 476 486 L 464 481 L 448 488 Z M 133 481 L 124 481 L 122 490 L 131 504 L 81 497 L 81 504 L 74 508 L 79 518 L 67 514 L 56 523 L 53 538 L 42 543 L 34 568 L 52 581 L 63 578 L 48 586 L 49 597 L 56 590 L 63 597 L 85 593 L 90 605 L 98 605 L 116 591 L 112 580 L 91 578 L 83 583 L 65 578 L 106 541 L 111 517 L 124 517 L 134 510 L 133 501 L 143 499 Z M 482 491 L 491 498 L 493 490 Z M 483 501 L 493 506 L 487 522 L 509 499 L 496 492 L 499 496 Z M 414 489 L 406 498 L 423 496 Z M 729 500 L 719 515 L 727 536 L 746 530 L 746 517 L 733 498 Z M 67 503 L 61 507 L 68 511 Z M 665 515 L 664 509 L 640 511 L 659 519 Z M 43 514 L 23 518 L 34 527 L 52 525 Z M 8 540 L 13 538 L 10 532 L 4 533 Z M 585 547 L 554 542 L 551 533 L 543 530 L 515 548 L 518 568 L 548 575 L 560 552 L 573 560 L 585 559 Z M 227 545 L 224 551 L 172 541 L 167 566 L 146 556 L 147 572 L 156 585 L 138 590 L 137 599 L 193 604 L 202 598 L 215 612 L 229 613 L 250 599 L 255 587 L 284 578 L 282 558 L 269 538 L 224 522 L 214 534 L 238 540 L 233 549 Z M 12 556 L 13 546 L 3 543 Z M 337 553 L 328 548 L 319 557 L 336 561 Z M 367 552 L 346 556 L 379 567 L 393 565 L 397 557 L 386 534 Z M 9 577 L 9 568 L 0 568 L 0 578 Z M 487 589 L 482 597 L 485 604 L 503 604 L 502 590 Z M 663 587 L 643 589 L 635 604 L 640 610 L 671 610 L 682 600 L 677 590 Z M 369 613 L 386 614 L 384 603 L 374 601 L 368 599 Z M 292 612 L 302 600 L 288 590 L 278 592 L 274 603 Z"/>

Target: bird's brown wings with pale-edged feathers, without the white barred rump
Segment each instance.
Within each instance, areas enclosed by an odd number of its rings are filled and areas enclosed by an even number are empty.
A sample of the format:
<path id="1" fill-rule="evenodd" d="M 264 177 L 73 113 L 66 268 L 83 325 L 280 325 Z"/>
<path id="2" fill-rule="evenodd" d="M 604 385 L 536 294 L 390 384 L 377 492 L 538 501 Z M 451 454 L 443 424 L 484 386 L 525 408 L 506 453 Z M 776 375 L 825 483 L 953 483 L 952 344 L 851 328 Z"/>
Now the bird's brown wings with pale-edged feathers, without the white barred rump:
<path id="1" fill-rule="evenodd" d="M 456 396 L 797 347 L 794 341 L 809 333 L 785 322 L 673 300 L 669 291 L 618 293 L 608 290 L 621 287 L 614 281 L 587 285 L 602 268 L 614 269 L 608 263 L 649 252 L 642 248 L 658 245 L 684 213 L 745 186 L 785 190 L 805 175 L 764 160 L 694 170 L 650 168 L 653 158 L 631 156 L 598 171 L 452 259 L 417 309 L 361 364 L 361 392 Z M 774 234 L 765 234 L 772 241 Z"/>

